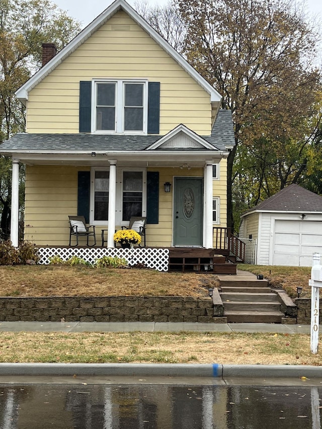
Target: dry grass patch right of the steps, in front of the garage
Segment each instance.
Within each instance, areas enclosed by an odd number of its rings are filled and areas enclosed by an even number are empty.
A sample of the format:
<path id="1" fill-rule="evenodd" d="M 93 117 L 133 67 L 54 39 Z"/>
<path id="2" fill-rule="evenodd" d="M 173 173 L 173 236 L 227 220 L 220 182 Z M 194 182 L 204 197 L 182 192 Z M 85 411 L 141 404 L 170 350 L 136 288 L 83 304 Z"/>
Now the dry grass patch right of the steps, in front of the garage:
<path id="1" fill-rule="evenodd" d="M 270 285 L 276 288 L 283 288 L 290 297 L 297 297 L 296 288 L 303 288 L 301 298 L 311 296 L 311 287 L 308 280 L 311 277 L 311 267 L 282 267 L 263 265 L 239 265 L 238 269 L 249 271 L 253 274 L 263 274 Z"/>

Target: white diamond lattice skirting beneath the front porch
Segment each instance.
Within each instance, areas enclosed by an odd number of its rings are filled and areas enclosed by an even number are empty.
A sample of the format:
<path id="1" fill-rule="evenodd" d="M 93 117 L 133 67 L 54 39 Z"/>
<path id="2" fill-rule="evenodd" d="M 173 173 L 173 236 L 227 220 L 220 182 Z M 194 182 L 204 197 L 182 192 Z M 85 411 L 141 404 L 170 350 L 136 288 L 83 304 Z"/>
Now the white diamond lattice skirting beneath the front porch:
<path id="1" fill-rule="evenodd" d="M 93 247 L 40 247 L 38 264 L 49 264 L 49 258 L 60 256 L 63 261 L 67 261 L 71 256 L 78 256 L 93 264 L 102 256 L 117 256 L 125 258 L 129 266 L 144 264 L 148 268 L 157 271 L 168 271 L 169 249 L 164 248 L 140 248 L 122 249 L 119 247 L 93 248 Z"/>

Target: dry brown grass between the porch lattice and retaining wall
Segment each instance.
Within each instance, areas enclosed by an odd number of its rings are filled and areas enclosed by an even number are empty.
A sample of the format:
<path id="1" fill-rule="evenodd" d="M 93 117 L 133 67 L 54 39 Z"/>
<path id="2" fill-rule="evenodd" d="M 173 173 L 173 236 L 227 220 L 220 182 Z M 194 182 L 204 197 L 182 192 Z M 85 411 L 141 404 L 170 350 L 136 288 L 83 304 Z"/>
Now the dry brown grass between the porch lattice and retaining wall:
<path id="1" fill-rule="evenodd" d="M 0 296 L 207 296 L 209 274 L 84 266 L 0 267 Z"/>

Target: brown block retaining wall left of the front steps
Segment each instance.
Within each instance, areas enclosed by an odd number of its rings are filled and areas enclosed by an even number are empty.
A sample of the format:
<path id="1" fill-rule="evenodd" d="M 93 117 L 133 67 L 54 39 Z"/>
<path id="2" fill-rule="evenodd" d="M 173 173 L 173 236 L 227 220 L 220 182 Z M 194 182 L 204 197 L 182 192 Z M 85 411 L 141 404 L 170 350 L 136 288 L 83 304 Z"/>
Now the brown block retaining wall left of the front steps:
<path id="1" fill-rule="evenodd" d="M 1 321 L 225 322 L 210 297 L 0 297 Z"/>

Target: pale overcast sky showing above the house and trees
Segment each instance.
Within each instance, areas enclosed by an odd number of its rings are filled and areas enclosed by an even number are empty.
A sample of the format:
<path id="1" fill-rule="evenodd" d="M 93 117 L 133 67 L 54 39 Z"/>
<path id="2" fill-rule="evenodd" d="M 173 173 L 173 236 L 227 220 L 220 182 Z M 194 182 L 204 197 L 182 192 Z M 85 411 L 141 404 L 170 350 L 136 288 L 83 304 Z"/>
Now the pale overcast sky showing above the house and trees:
<path id="1" fill-rule="evenodd" d="M 135 0 L 127 0 L 133 6 Z M 98 15 L 100 15 L 112 0 L 53 0 L 60 9 L 68 12 L 72 18 L 81 21 L 85 27 L 92 22 Z M 168 3 L 168 0 L 149 0 L 151 5 L 163 6 Z M 307 13 L 312 15 L 312 18 L 318 15 L 322 21 L 322 1 L 321 0 L 306 0 Z"/>

